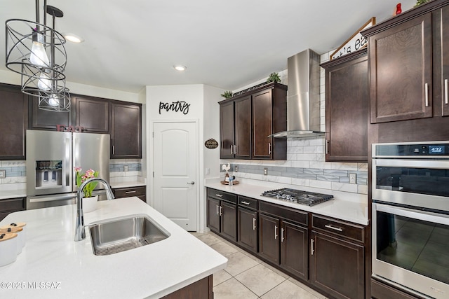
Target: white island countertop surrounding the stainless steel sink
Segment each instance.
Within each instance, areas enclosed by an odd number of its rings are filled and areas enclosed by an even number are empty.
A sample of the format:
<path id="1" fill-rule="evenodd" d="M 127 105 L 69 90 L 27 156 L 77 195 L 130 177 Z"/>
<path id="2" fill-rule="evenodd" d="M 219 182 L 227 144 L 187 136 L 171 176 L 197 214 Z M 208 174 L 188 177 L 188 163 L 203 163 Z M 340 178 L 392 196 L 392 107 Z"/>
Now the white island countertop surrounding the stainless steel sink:
<path id="1" fill-rule="evenodd" d="M 0 267 L 0 282 L 24 284 L 20 289 L 2 284 L 0 298 L 160 298 L 226 267 L 227 258 L 138 197 L 98 204 L 98 209 L 84 214 L 85 225 L 147 214 L 170 237 L 137 249 L 95 256 L 88 228 L 86 239 L 74 242 L 74 204 L 9 214 L 0 225 L 27 223 L 27 241 L 14 263 Z M 30 288 L 34 282 L 58 288 Z"/>

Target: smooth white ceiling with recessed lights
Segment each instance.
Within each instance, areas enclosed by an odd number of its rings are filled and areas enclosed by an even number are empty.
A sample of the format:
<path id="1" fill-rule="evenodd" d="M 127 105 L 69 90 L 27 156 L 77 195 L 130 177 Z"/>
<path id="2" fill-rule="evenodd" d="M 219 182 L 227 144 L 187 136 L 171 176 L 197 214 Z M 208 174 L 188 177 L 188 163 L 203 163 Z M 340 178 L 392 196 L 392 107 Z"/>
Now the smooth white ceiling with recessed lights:
<path id="1" fill-rule="evenodd" d="M 40 1 L 43 6 L 43 0 Z M 340 46 L 371 17 L 390 18 L 398 0 L 48 0 L 64 12 L 67 81 L 139 92 L 145 85 L 206 84 L 235 90 L 311 48 Z M 402 9 L 416 0 L 402 1 Z M 42 11 L 42 8 L 41 8 Z M 35 20 L 35 1 L 0 0 L 0 24 Z M 42 20 L 42 18 L 41 18 Z M 51 20 L 51 19 L 50 19 Z M 5 30 L 0 30 L 1 44 Z M 0 69 L 5 47 L 0 47 Z M 173 64 L 184 64 L 180 73 Z M 14 74 L 14 73 L 13 73 Z"/>

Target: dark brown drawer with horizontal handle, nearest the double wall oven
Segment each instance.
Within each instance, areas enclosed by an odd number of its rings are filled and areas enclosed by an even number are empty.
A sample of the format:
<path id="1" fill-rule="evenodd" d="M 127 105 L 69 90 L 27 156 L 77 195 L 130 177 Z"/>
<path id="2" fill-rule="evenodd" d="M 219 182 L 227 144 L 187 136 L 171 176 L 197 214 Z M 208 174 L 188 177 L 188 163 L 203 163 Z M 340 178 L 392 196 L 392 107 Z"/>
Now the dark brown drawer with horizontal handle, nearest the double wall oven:
<path id="1" fill-rule="evenodd" d="M 312 215 L 312 228 L 325 230 L 335 235 L 348 237 L 359 242 L 365 242 L 365 228 L 361 225 L 355 225 L 347 222 L 337 221 L 335 219 L 323 216 Z"/>

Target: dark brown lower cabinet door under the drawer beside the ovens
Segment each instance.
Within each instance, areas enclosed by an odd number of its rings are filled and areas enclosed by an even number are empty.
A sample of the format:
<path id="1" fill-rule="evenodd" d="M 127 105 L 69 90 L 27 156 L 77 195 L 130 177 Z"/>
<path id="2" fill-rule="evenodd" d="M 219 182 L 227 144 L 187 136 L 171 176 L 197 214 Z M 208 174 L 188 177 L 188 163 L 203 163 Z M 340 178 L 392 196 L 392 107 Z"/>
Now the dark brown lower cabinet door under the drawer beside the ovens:
<path id="1" fill-rule="evenodd" d="M 311 232 L 310 282 L 335 298 L 365 298 L 364 247 Z"/>

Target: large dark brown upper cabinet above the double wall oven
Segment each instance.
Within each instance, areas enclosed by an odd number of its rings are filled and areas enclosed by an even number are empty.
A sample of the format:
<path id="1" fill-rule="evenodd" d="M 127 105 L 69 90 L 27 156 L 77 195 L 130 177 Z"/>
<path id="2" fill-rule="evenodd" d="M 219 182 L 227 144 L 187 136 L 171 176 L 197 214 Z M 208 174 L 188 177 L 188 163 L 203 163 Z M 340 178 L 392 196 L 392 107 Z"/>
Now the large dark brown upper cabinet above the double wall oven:
<path id="1" fill-rule="evenodd" d="M 448 114 L 448 18 L 447 1 L 436 0 L 363 31 L 371 123 Z"/>

